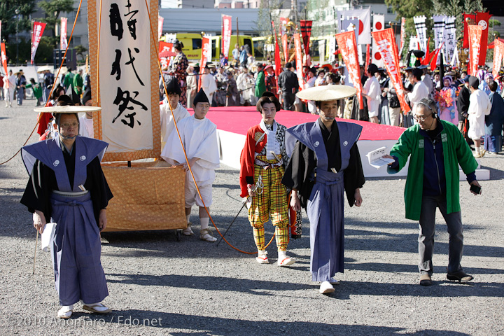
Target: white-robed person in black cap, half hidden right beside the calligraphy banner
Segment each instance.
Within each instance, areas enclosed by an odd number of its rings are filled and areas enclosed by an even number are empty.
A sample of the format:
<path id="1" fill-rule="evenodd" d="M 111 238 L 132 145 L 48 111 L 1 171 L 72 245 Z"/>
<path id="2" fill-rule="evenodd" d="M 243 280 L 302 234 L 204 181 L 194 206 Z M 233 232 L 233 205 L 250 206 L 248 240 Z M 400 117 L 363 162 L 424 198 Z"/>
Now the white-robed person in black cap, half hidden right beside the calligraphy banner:
<path id="1" fill-rule="evenodd" d="M 168 80 L 166 83 L 167 87 L 167 93 L 168 97 L 165 97 L 163 99 L 162 104 L 160 104 L 160 119 L 161 119 L 161 148 L 165 148 L 166 146 L 166 141 L 169 138 L 169 135 L 174 132 L 175 129 L 175 124 L 174 124 L 174 117 L 175 116 L 175 121 L 178 124 L 180 120 L 183 118 L 187 118 L 190 116 L 189 112 L 182 106 L 182 104 L 179 104 L 179 100 L 182 94 L 182 90 L 179 85 L 179 80 L 176 80 L 176 78 L 172 77 L 172 79 Z M 165 89 L 163 88 L 163 91 Z M 170 111 L 168 104 L 168 99 L 170 104 L 172 104 L 172 109 L 174 111 L 173 116 L 172 116 L 172 111 Z M 175 131 L 176 133 L 176 131 Z M 178 137 L 177 137 L 178 138 Z M 177 143 L 179 143 L 179 139 L 176 139 Z M 172 146 L 172 143 L 169 143 L 169 146 Z"/>

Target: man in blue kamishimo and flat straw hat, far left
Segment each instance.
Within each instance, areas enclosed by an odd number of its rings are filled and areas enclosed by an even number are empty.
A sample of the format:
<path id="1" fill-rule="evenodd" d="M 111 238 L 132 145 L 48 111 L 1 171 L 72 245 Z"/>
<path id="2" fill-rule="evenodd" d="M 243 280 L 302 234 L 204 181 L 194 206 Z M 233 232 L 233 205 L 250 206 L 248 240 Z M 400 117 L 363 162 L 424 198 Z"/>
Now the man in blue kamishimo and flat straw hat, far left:
<path id="1" fill-rule="evenodd" d="M 46 220 L 57 223 L 52 237 L 52 263 L 59 294 L 59 318 L 70 318 L 73 304 L 106 314 L 101 302 L 109 295 L 100 262 L 99 232 L 106 228 L 106 206 L 113 197 L 100 161 L 104 141 L 79 137 L 78 112 L 99 111 L 92 106 L 52 106 L 59 136 L 22 148 L 30 175 L 21 203 L 34 213 L 34 228 L 43 232 Z"/>

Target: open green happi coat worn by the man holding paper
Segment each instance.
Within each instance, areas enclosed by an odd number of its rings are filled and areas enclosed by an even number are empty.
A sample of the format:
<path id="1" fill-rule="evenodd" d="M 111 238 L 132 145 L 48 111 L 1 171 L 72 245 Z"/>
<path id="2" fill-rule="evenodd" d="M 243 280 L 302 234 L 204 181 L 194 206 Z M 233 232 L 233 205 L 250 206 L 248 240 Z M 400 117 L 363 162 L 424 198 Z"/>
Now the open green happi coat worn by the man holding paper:
<path id="1" fill-rule="evenodd" d="M 461 132 L 452 123 L 437 120 L 441 123 L 441 143 L 444 158 L 444 173 L 447 183 L 447 213 L 461 211 L 459 202 L 459 171 L 462 167 L 465 174 L 474 172 L 477 162 L 472 156 L 469 145 L 463 139 Z M 388 174 L 395 174 L 405 167 L 408 156 L 409 168 L 405 186 L 406 218 L 419 221 L 423 193 L 423 155 L 425 141 L 429 141 L 420 133 L 420 126 L 414 125 L 402 133 L 398 142 L 391 149 L 390 155 L 398 158 L 399 166 L 388 167 Z"/>

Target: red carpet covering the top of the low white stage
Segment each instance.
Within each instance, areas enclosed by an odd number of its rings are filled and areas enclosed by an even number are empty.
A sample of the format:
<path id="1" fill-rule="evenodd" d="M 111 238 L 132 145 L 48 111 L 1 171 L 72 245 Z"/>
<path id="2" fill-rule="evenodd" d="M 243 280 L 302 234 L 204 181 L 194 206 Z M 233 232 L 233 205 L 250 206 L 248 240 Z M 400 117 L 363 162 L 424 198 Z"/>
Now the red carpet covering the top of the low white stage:
<path id="1" fill-rule="evenodd" d="M 188 110 L 193 114 L 193 109 Z M 255 110 L 255 106 L 239 106 L 239 107 L 211 107 L 207 114 L 218 130 L 228 131 L 237 134 L 246 134 L 247 130 L 253 125 L 260 123 L 260 113 Z M 302 123 L 315 121 L 318 116 L 310 113 L 301 113 L 293 111 L 279 111 L 276 113 L 275 120 L 286 127 L 293 127 Z M 365 121 L 337 119 L 338 121 L 347 121 L 356 123 L 363 127 L 363 132 L 360 135 L 360 140 L 397 140 L 399 139 L 404 128 L 378 125 L 367 123 Z"/>

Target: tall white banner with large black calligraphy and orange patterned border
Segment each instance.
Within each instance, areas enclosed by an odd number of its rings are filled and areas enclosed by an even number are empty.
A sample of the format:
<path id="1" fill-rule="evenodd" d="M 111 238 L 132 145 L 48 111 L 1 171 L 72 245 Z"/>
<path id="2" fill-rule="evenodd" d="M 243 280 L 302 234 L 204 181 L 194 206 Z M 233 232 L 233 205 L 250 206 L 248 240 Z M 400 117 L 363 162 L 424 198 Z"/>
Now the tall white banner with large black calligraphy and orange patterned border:
<path id="1" fill-rule="evenodd" d="M 87 1 L 92 97 L 102 107 L 93 118 L 94 137 L 109 143 L 104 161 L 161 153 L 158 41 L 156 22 L 149 19 L 149 12 L 151 18 L 158 16 L 158 1 L 149 0 L 148 6 L 143 1 Z"/>

